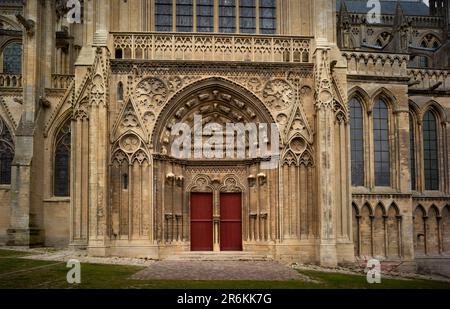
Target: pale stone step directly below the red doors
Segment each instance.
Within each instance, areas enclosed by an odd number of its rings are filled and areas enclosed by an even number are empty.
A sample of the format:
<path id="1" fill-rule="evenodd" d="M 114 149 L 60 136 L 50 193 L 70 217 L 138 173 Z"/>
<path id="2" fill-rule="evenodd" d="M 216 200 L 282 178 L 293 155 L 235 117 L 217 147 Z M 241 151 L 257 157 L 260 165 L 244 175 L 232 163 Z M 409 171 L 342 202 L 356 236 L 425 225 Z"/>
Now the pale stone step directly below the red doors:
<path id="1" fill-rule="evenodd" d="M 180 252 L 167 258 L 169 261 L 272 261 L 269 254 L 257 252 Z"/>

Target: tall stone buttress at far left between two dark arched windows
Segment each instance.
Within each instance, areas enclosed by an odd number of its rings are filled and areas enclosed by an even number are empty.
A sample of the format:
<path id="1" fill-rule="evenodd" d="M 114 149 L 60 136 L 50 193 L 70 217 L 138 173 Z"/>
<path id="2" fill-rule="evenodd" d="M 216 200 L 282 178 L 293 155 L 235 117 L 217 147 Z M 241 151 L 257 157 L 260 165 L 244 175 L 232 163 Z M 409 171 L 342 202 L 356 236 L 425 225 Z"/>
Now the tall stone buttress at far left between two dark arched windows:
<path id="1" fill-rule="evenodd" d="M 11 246 L 29 246 L 43 243 L 42 218 L 42 181 L 34 181 L 32 175 L 40 174 L 42 164 L 42 141 L 39 132 L 35 132 L 38 118 L 39 97 L 43 95 L 41 82 L 42 61 L 40 41 L 42 40 L 43 1 L 27 1 L 24 16 L 17 14 L 17 21 L 23 26 L 23 109 L 16 130 L 15 157 L 11 173 L 11 208 L 10 222 L 7 230 L 7 244 Z M 50 40 L 50 38 L 49 38 Z M 41 150 L 38 152 L 38 150 Z M 36 214 L 34 217 L 31 214 Z"/>

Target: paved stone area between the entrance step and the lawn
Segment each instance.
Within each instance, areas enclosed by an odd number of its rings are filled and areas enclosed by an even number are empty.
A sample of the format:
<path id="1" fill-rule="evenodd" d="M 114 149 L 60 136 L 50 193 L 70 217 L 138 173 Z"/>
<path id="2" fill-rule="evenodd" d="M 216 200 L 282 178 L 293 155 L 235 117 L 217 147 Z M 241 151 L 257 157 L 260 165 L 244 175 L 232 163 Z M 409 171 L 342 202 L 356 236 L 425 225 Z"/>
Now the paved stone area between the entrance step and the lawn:
<path id="1" fill-rule="evenodd" d="M 274 261 L 159 261 L 133 275 L 137 280 L 302 280 Z"/>

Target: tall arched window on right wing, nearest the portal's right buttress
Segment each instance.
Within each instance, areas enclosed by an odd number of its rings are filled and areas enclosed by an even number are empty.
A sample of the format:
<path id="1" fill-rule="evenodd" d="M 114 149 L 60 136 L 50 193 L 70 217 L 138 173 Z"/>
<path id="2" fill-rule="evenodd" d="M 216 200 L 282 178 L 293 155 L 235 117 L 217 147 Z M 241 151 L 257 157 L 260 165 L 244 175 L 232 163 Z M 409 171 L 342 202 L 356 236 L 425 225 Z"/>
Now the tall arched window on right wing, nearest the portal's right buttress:
<path id="1" fill-rule="evenodd" d="M 352 185 L 364 186 L 364 126 L 361 103 L 350 100 L 350 139 L 352 159 Z"/>

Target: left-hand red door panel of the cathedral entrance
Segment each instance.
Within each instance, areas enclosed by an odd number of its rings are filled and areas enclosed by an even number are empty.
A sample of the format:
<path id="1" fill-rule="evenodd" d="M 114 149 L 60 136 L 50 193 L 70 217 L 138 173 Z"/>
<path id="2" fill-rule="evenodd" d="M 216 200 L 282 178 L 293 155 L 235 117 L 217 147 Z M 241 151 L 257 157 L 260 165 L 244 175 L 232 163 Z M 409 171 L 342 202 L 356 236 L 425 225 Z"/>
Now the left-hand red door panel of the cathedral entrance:
<path id="1" fill-rule="evenodd" d="M 191 193 L 191 250 L 213 250 L 213 196 Z"/>

